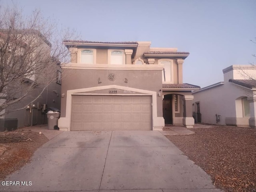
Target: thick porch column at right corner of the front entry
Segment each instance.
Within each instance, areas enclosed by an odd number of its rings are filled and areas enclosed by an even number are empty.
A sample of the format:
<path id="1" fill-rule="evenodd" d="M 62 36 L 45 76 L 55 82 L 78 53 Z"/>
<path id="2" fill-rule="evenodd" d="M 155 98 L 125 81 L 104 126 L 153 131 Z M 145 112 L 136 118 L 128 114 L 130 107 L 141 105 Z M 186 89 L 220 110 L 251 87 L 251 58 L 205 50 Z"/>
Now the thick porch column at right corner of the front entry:
<path id="1" fill-rule="evenodd" d="M 183 125 L 186 128 L 193 128 L 195 121 L 192 117 L 192 102 L 193 102 L 193 95 L 184 95 L 182 96 L 183 100 Z"/>

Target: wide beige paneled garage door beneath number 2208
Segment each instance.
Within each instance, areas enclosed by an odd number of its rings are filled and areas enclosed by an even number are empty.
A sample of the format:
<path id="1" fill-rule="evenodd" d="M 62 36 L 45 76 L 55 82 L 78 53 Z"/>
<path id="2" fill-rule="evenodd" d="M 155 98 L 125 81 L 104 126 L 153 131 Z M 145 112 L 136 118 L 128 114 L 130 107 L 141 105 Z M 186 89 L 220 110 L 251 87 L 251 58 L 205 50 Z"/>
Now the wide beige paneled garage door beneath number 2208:
<path id="1" fill-rule="evenodd" d="M 152 130 L 151 96 L 73 95 L 70 130 Z"/>

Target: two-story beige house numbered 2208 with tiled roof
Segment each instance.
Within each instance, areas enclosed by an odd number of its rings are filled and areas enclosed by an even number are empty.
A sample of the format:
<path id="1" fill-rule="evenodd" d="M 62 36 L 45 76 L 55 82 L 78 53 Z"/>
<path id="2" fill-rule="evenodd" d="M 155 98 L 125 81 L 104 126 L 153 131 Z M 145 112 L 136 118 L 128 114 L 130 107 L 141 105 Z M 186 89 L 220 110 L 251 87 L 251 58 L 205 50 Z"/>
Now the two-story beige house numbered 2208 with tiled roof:
<path id="1" fill-rule="evenodd" d="M 151 42 L 65 40 L 60 130 L 162 130 L 194 125 L 192 90 L 183 84 L 188 52 Z M 75 48 L 74 48 L 75 46 Z"/>

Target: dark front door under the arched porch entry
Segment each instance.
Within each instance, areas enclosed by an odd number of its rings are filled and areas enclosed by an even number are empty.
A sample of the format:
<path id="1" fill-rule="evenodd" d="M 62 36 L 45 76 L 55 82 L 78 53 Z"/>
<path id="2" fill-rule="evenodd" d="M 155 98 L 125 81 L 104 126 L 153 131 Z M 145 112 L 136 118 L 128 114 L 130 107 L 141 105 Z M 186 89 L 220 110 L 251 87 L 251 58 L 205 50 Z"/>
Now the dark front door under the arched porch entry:
<path id="1" fill-rule="evenodd" d="M 164 96 L 163 117 L 165 124 L 172 124 L 172 95 Z"/>

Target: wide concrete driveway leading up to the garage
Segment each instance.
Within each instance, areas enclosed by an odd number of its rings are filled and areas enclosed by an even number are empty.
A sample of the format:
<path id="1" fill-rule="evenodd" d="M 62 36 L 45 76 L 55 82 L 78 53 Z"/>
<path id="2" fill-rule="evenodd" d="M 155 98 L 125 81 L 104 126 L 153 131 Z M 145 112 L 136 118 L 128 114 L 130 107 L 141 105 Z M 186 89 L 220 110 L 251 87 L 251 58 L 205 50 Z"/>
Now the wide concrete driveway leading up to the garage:
<path id="1" fill-rule="evenodd" d="M 20 185 L 0 191 L 220 191 L 158 131 L 62 132 L 5 181 Z"/>

